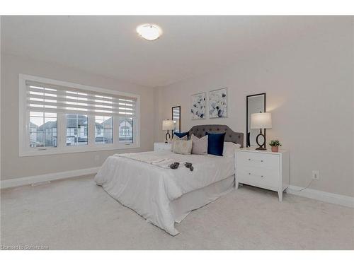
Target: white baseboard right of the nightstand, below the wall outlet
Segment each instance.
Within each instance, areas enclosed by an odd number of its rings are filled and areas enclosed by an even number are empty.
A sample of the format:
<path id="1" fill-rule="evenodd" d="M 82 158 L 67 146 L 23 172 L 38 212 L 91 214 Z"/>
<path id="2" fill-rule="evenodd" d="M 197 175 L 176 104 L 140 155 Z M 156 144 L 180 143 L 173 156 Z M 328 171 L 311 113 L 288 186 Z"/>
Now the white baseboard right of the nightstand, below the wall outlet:
<path id="1" fill-rule="evenodd" d="M 330 192 L 321 192 L 316 189 L 304 189 L 300 192 L 301 189 L 304 188 L 290 185 L 286 192 L 289 194 L 295 194 L 310 199 L 329 202 L 330 204 L 338 204 L 341 206 L 354 208 L 354 197 L 344 196 Z"/>

